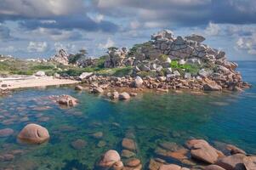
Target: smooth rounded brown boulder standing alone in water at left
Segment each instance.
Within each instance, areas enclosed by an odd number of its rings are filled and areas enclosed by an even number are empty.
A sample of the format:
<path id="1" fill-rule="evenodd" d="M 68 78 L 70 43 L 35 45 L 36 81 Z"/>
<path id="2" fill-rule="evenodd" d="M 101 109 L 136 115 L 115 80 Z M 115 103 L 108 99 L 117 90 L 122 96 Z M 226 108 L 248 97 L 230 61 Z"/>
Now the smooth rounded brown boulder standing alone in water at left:
<path id="1" fill-rule="evenodd" d="M 18 135 L 18 139 L 31 144 L 42 144 L 49 138 L 48 130 L 45 127 L 33 123 L 26 125 Z"/>

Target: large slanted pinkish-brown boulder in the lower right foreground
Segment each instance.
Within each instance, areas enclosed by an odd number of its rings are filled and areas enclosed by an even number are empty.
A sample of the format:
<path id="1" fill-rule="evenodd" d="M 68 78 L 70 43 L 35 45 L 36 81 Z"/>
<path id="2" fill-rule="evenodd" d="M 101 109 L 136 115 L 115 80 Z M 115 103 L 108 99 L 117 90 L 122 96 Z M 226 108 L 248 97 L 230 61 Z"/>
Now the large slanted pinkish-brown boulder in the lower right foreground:
<path id="1" fill-rule="evenodd" d="M 219 157 L 224 156 L 219 150 L 216 150 L 202 139 L 191 139 L 187 142 L 187 146 L 191 149 L 191 156 L 199 161 L 213 164 L 218 161 Z"/>

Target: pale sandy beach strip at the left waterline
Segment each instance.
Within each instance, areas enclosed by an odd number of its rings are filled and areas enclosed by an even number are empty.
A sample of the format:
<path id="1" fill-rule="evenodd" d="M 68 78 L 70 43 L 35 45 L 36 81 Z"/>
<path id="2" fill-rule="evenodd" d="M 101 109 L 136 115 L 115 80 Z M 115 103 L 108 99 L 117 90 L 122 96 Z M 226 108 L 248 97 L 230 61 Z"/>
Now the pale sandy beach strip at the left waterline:
<path id="1" fill-rule="evenodd" d="M 78 81 L 54 77 L 0 77 L 0 89 L 35 88 L 54 85 L 75 84 Z"/>

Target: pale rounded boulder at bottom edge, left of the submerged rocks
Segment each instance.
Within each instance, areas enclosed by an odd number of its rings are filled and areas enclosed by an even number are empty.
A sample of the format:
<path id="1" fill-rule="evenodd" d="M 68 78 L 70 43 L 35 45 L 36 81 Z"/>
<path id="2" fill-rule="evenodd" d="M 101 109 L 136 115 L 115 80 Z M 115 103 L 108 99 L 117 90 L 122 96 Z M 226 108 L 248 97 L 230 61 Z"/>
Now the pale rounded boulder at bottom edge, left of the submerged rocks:
<path id="1" fill-rule="evenodd" d="M 116 150 L 108 150 L 105 152 L 104 156 L 101 157 L 98 167 L 105 169 L 122 169 L 123 164 Z"/>

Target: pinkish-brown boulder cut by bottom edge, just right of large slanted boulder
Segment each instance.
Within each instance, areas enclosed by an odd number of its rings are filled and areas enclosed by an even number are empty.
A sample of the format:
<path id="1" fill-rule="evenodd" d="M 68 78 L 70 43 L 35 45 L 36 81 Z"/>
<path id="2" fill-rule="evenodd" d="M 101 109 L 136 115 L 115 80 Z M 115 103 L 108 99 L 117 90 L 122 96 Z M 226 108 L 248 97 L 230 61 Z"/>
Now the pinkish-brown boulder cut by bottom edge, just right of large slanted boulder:
<path id="1" fill-rule="evenodd" d="M 246 170 L 246 168 L 243 165 L 243 160 L 247 156 L 243 154 L 236 154 L 232 156 L 226 156 L 221 159 L 219 159 L 216 164 L 219 165 L 219 167 L 223 167 L 226 170 Z"/>

